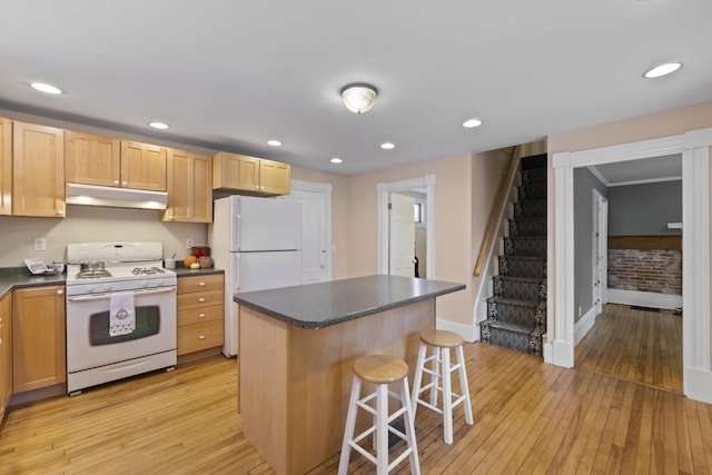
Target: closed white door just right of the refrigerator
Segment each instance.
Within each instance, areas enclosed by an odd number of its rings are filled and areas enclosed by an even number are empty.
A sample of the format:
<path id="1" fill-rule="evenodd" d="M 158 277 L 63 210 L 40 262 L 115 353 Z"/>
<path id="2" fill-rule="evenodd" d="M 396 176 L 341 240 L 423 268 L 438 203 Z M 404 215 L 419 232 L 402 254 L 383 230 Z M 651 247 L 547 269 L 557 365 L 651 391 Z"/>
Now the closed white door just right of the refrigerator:
<path id="1" fill-rule="evenodd" d="M 320 186 L 317 186 L 320 185 Z M 318 188 L 318 189 L 312 189 Z M 328 238 L 329 192 L 323 184 L 291 181 L 291 194 L 280 199 L 301 202 L 301 283 L 332 278 Z"/>

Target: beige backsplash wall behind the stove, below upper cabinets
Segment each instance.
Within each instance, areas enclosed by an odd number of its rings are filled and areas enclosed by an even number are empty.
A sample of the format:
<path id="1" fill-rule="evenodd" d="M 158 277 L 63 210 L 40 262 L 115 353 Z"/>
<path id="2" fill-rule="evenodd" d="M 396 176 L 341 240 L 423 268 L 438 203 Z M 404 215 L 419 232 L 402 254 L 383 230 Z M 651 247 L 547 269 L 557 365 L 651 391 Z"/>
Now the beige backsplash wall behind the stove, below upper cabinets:
<path id="1" fill-rule="evenodd" d="M 65 219 L 0 216 L 0 267 L 23 266 L 27 257 L 66 263 L 69 243 L 158 241 L 164 257 L 176 253 L 176 258 L 190 253 L 186 239 L 208 245 L 207 225 L 162 222 L 160 212 L 70 205 Z M 34 250 L 34 238 L 44 238 L 47 250 Z"/>

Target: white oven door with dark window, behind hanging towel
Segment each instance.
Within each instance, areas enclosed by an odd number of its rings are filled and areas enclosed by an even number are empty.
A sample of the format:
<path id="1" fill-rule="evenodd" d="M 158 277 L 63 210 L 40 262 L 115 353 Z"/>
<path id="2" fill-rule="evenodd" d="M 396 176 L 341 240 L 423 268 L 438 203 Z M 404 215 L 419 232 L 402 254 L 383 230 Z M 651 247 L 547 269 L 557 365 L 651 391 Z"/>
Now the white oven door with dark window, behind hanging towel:
<path id="1" fill-rule="evenodd" d="M 67 370 L 176 349 L 176 287 L 134 290 L 136 329 L 109 336 L 111 294 L 67 297 Z"/>

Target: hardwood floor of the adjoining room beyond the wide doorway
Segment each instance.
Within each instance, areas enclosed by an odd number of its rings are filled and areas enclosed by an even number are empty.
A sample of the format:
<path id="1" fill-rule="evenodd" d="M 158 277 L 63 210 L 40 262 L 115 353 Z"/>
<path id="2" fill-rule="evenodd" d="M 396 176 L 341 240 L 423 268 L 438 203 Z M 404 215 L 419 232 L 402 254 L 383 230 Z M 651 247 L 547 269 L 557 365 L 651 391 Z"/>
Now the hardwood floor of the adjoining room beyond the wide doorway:
<path id="1" fill-rule="evenodd" d="M 682 318 L 606 304 L 576 345 L 574 365 L 682 393 Z"/>

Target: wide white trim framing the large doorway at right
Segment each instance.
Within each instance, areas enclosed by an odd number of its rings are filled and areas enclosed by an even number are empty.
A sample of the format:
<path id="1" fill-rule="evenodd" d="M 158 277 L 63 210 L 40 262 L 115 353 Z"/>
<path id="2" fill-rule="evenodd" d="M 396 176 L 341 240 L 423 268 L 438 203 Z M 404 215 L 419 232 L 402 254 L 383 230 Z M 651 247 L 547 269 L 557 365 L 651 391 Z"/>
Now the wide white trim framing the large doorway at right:
<path id="1" fill-rule="evenodd" d="M 545 360 L 574 366 L 574 169 L 682 154 L 683 181 L 683 393 L 711 402 L 710 372 L 710 146 L 712 129 L 580 152 L 554 154 L 555 253 L 550 285 L 556 290 Z M 695 258 L 696 256 L 696 258 Z M 701 258 L 702 257 L 702 258 Z"/>

